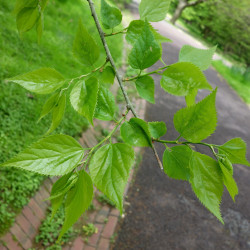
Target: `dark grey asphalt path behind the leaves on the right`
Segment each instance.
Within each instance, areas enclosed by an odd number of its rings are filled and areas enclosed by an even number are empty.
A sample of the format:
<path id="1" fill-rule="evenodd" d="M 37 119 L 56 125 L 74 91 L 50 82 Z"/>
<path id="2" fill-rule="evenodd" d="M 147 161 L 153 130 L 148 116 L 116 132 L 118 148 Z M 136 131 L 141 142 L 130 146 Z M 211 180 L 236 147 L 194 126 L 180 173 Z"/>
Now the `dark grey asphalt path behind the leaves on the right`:
<path id="1" fill-rule="evenodd" d="M 137 16 L 135 11 L 135 16 Z M 166 22 L 155 25 L 161 34 L 173 40 L 163 49 L 167 64 L 178 60 L 182 45 L 196 46 L 193 38 L 180 32 Z M 152 67 L 156 69 L 160 63 Z M 250 147 L 250 111 L 228 84 L 210 68 L 205 72 L 213 87 L 218 86 L 218 127 L 208 142 L 223 144 L 234 137 L 242 137 Z M 155 76 L 156 104 L 147 105 L 147 121 L 164 121 L 168 132 L 166 139 L 175 139 L 178 134 L 173 126 L 174 113 L 185 106 L 183 97 L 165 93 L 160 87 L 160 77 Z M 207 91 L 201 91 L 198 99 Z M 164 148 L 156 145 L 162 156 Z M 209 153 L 199 147 L 201 153 Z M 248 149 L 250 159 L 250 149 Z M 150 149 L 146 149 L 134 184 L 129 190 L 126 217 L 118 231 L 115 250 L 246 250 L 250 249 L 250 168 L 235 165 L 234 177 L 239 195 L 233 203 L 227 191 L 222 200 L 223 226 L 208 212 L 184 181 L 168 178 L 157 167 Z"/>

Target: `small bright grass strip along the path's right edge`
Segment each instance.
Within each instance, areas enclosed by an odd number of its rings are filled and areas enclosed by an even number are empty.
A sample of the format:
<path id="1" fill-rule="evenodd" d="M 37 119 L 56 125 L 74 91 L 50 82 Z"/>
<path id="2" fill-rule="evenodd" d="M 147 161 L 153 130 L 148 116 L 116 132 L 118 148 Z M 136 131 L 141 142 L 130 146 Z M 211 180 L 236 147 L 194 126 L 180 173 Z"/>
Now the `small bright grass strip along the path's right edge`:
<path id="1" fill-rule="evenodd" d="M 225 78 L 230 86 L 239 94 L 239 96 L 250 104 L 250 78 L 249 73 L 240 66 L 229 68 L 222 61 L 213 61 L 214 68 Z"/>

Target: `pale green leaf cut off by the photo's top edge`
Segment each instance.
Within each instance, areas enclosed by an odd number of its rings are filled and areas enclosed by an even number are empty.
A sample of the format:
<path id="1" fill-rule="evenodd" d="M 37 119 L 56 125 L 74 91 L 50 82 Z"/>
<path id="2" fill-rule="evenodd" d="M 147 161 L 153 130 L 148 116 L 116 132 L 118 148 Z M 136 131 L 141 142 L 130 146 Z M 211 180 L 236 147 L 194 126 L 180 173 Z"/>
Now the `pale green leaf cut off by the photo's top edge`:
<path id="1" fill-rule="evenodd" d="M 141 0 L 140 17 L 150 22 L 159 22 L 166 18 L 171 0 Z"/>

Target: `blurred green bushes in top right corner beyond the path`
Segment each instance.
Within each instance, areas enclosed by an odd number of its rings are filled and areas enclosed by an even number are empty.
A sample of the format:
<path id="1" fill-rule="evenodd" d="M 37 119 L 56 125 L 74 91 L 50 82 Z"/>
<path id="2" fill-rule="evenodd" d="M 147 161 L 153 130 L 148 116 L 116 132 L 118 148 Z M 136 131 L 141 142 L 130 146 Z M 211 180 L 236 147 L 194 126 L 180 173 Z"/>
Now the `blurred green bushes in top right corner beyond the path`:
<path id="1" fill-rule="evenodd" d="M 248 0 L 209 0 L 184 10 L 182 19 L 196 34 L 250 65 Z"/>

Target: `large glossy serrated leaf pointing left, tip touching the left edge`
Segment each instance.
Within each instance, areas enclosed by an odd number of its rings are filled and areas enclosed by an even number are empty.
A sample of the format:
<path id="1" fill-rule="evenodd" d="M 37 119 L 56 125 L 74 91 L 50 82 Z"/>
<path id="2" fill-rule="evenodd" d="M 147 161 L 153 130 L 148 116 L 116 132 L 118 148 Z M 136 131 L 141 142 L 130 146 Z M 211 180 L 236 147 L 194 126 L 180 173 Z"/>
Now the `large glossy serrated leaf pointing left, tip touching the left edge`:
<path id="1" fill-rule="evenodd" d="M 75 168 L 83 154 L 84 149 L 72 137 L 52 135 L 35 142 L 0 166 L 17 167 L 42 175 L 61 176 Z"/>

